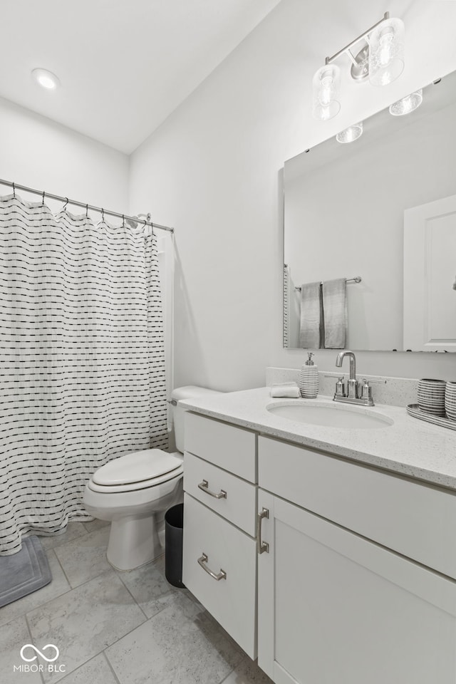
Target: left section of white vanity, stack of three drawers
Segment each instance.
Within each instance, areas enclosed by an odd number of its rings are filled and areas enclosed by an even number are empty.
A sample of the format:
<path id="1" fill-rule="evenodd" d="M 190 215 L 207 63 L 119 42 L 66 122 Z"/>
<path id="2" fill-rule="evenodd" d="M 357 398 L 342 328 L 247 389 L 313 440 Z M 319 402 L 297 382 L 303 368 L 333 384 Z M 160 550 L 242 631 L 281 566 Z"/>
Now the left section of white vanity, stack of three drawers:
<path id="1" fill-rule="evenodd" d="M 185 416 L 182 580 L 257 657 L 257 435 Z"/>

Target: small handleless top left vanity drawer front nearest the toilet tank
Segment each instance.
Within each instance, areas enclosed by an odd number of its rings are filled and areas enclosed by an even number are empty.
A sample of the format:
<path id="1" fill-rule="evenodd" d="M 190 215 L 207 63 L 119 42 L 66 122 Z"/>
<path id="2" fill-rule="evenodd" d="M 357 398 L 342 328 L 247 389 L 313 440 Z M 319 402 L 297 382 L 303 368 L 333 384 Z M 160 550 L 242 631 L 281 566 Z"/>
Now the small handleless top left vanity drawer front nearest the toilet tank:
<path id="1" fill-rule="evenodd" d="M 257 482 L 254 432 L 205 418 L 185 414 L 185 451 L 234 472 L 249 482 Z"/>

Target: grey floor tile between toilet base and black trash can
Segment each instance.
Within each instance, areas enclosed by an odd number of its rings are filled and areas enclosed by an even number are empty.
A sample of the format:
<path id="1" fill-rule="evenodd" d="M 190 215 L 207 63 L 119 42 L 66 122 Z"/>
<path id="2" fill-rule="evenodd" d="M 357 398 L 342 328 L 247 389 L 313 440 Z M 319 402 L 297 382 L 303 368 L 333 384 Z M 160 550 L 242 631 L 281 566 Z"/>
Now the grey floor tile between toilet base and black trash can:
<path id="1" fill-rule="evenodd" d="M 186 591 L 168 584 L 165 577 L 165 556 L 160 556 L 136 570 L 118 571 L 118 576 L 148 618 L 162 611 L 172 594 Z"/>

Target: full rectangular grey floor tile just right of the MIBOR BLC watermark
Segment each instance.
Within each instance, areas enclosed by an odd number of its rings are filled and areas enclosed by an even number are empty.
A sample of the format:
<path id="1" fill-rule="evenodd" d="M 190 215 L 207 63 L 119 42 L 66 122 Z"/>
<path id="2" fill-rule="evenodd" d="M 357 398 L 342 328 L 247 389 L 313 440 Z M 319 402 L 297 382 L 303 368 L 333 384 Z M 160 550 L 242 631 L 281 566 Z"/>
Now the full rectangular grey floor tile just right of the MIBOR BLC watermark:
<path id="1" fill-rule="evenodd" d="M 27 614 L 33 643 L 53 643 L 71 673 L 145 621 L 144 613 L 113 570 Z M 45 682 L 64 675 L 44 675 Z"/>

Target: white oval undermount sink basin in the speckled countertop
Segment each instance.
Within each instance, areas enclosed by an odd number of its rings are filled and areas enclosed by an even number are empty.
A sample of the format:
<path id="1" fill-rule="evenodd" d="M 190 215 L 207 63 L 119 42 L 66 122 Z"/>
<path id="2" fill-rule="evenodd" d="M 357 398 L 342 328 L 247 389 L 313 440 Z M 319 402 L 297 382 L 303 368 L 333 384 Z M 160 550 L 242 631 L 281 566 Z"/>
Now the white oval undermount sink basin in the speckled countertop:
<path id="1" fill-rule="evenodd" d="M 333 402 L 313 402 L 295 399 L 286 402 L 273 402 L 266 409 L 274 415 L 294 420 L 295 423 L 324 425 L 325 427 L 346 427 L 351 430 L 389 427 L 394 420 L 383 413 L 369 408 L 336 404 Z"/>

